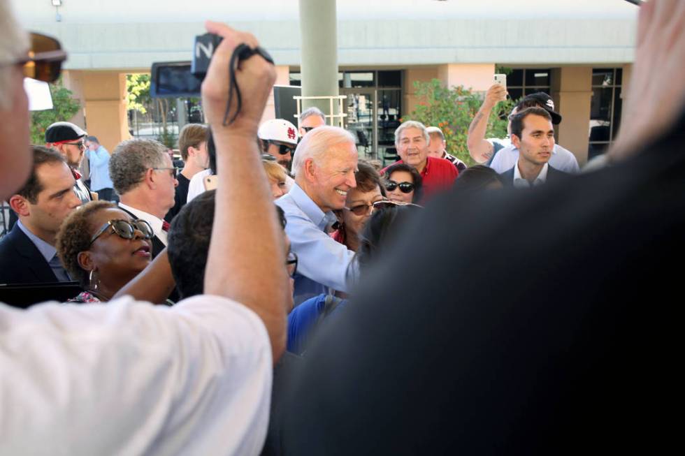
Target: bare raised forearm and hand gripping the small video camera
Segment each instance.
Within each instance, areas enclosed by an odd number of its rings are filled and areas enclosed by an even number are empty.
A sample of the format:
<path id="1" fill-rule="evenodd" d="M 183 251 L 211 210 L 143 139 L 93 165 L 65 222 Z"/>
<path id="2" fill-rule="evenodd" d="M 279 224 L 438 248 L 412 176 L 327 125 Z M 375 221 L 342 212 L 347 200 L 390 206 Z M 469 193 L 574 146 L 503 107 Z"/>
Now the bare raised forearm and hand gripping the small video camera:
<path id="1" fill-rule="evenodd" d="M 207 22 L 206 28 L 224 39 L 202 84 L 219 176 L 204 291 L 252 309 L 266 325 L 275 362 L 285 346 L 289 281 L 282 230 L 257 149 L 257 127 L 276 73 L 259 54 L 238 62 L 234 73 L 243 107 L 235 121 L 224 126 L 231 54 L 241 43 L 253 49 L 259 43 L 251 34 L 217 22 Z M 236 96 L 232 103 L 230 117 L 236 112 Z"/>

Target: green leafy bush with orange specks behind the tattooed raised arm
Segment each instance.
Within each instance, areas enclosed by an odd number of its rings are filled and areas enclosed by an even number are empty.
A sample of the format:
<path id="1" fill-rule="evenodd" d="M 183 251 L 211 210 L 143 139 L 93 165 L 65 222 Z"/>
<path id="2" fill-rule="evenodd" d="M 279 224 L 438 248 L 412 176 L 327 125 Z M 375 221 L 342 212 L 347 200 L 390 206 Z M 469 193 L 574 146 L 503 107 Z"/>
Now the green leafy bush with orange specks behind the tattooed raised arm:
<path id="1" fill-rule="evenodd" d="M 466 138 L 468 126 L 482 104 L 482 95 L 474 94 L 463 86 L 444 87 L 438 79 L 430 82 L 414 82 L 419 104 L 405 120 L 417 120 L 426 126 L 438 126 L 445 133 L 447 151 L 469 165 L 473 160 L 468 154 Z M 514 101 L 499 103 L 493 110 L 486 138 L 504 138 L 507 135 L 507 114 Z"/>

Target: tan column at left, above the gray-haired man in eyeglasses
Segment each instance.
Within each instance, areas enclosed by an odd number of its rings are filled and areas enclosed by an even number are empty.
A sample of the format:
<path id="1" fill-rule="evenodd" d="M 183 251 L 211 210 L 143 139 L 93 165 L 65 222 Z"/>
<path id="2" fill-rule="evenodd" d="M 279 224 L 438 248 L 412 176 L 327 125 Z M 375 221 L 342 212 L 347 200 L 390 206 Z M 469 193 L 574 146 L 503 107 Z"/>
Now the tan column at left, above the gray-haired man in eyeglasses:
<path id="1" fill-rule="evenodd" d="M 89 134 L 112 152 L 129 139 L 126 114 L 126 74 L 117 71 L 84 71 L 85 121 Z"/>

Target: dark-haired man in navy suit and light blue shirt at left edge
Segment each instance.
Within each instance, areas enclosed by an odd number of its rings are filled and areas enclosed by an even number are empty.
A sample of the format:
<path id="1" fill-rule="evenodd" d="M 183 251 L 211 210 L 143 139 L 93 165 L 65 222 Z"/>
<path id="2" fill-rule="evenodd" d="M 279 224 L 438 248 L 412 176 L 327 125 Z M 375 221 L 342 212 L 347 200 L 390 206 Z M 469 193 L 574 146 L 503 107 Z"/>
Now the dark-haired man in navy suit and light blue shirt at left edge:
<path id="1" fill-rule="evenodd" d="M 62 221 L 80 205 L 74 178 L 57 151 L 34 146 L 34 167 L 22 189 L 9 199 L 19 216 L 0 240 L 0 284 L 70 281 L 59 263 L 55 235 Z"/>

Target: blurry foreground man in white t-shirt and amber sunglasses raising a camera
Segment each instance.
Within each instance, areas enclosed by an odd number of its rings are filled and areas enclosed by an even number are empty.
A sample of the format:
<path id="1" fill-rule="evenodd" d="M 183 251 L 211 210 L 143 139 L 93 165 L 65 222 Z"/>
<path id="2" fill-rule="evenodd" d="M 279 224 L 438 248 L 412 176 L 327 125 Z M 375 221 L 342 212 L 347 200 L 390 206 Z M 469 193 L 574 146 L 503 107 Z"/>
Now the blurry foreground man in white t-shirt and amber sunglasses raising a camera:
<path id="1" fill-rule="evenodd" d="M 0 304 L 0 454 L 257 455 L 264 444 L 289 293 L 282 233 L 254 141 L 276 72 L 254 55 L 229 75 L 238 43 L 259 43 L 217 22 L 206 29 L 224 38 L 202 85 L 217 145 L 220 227 L 210 242 L 206 295 L 171 308 L 130 296 L 29 311 Z M 0 200 L 31 170 L 24 74 L 40 70 L 41 80 L 54 82 L 65 57 L 54 66 L 54 52 L 29 49 L 10 1 L 0 0 Z M 249 102 L 226 125 L 226 109 L 237 110 L 225 89 L 232 83 Z M 152 170 L 156 179 L 147 168 L 142 173 L 145 184 L 173 180 L 167 169 Z"/>

